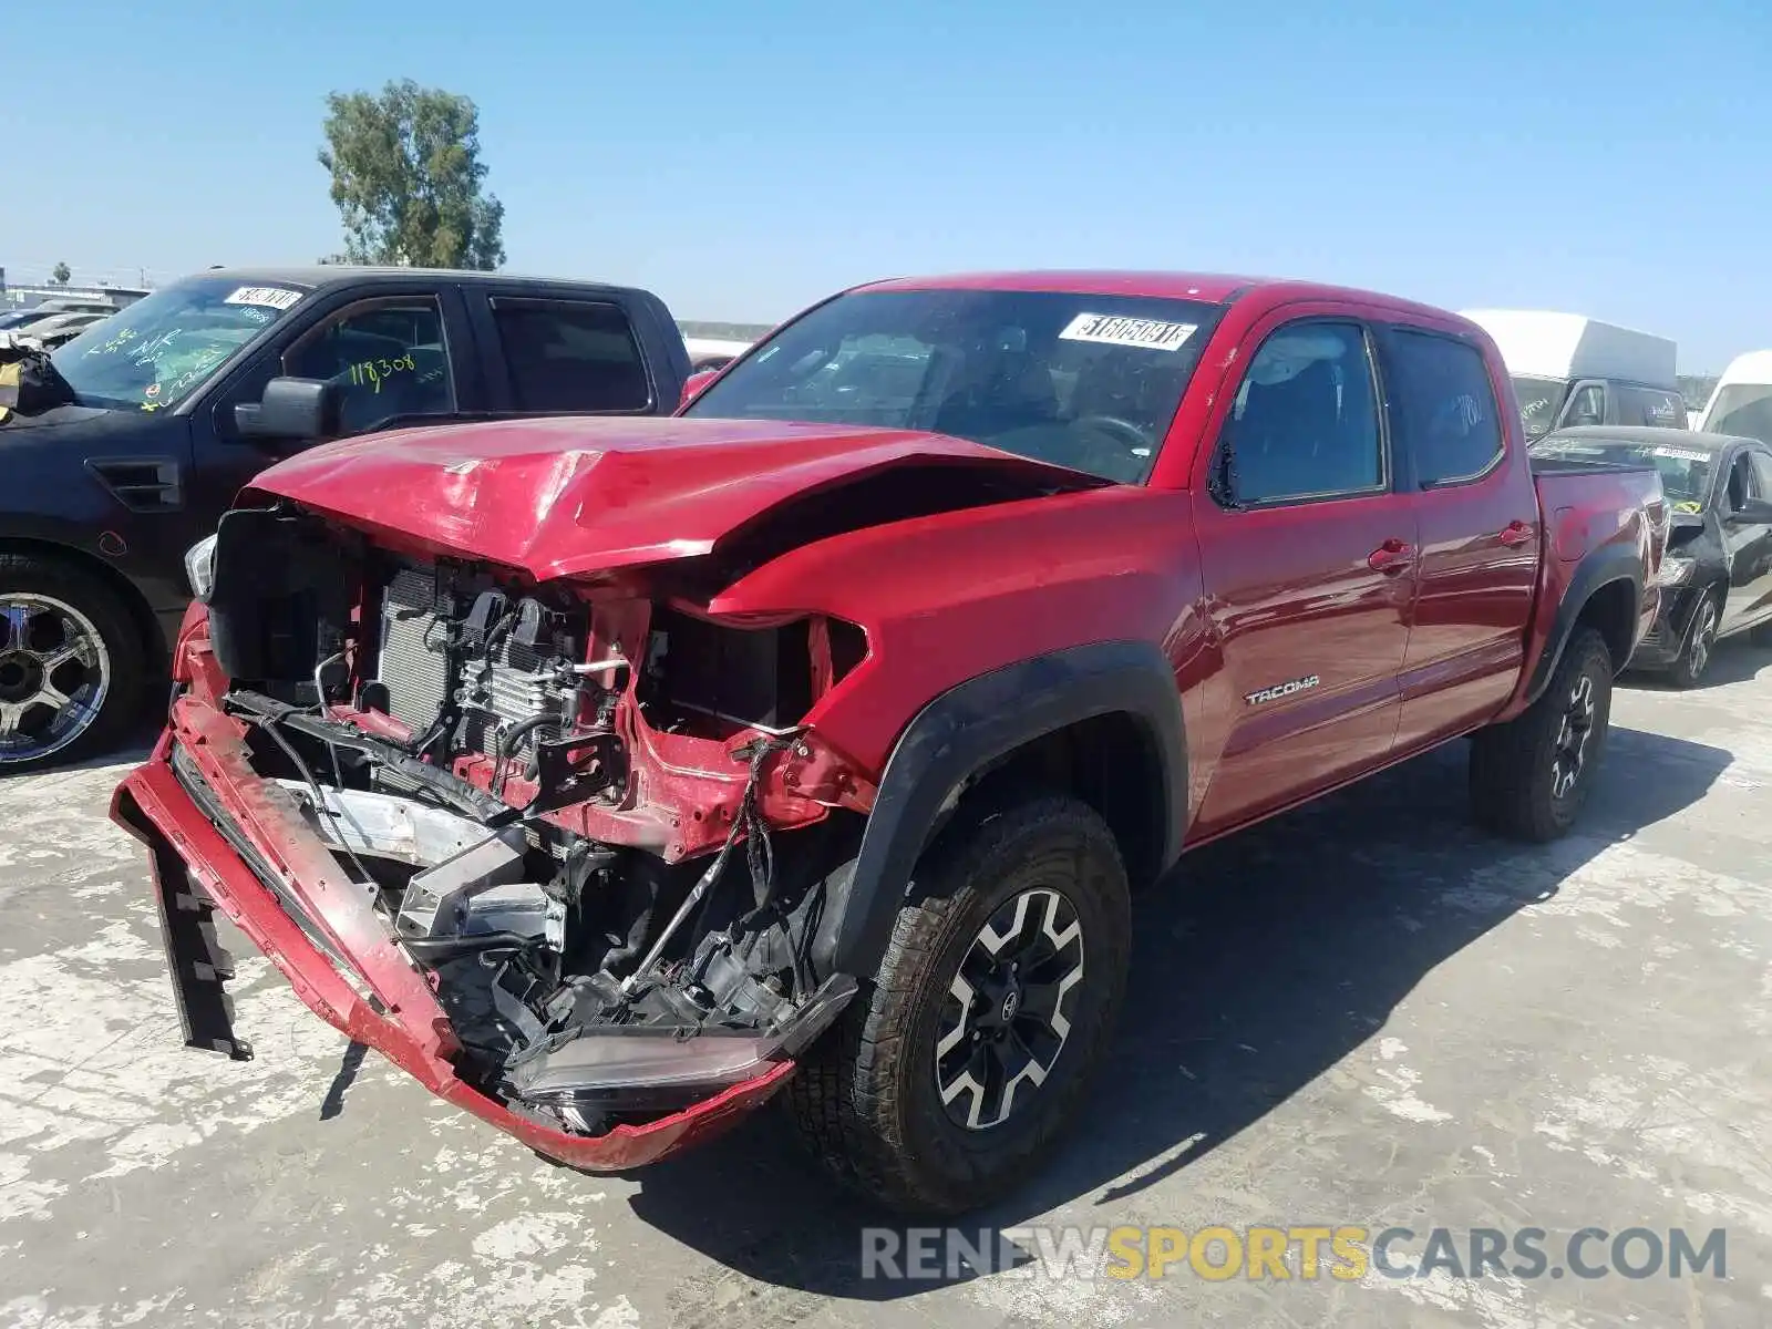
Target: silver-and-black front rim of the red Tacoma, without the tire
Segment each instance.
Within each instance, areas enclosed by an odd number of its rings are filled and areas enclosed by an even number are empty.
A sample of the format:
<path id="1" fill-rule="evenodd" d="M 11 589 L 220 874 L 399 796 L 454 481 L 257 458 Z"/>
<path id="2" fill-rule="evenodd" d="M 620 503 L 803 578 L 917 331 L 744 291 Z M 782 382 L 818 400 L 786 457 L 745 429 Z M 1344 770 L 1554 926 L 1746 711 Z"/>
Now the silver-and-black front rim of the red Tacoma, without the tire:
<path id="1" fill-rule="evenodd" d="M 1083 950 L 1076 905 L 1047 888 L 1005 900 L 973 937 L 936 1038 L 936 1092 L 957 1125 L 1001 1125 L 1045 1083 L 1070 1037 Z"/>

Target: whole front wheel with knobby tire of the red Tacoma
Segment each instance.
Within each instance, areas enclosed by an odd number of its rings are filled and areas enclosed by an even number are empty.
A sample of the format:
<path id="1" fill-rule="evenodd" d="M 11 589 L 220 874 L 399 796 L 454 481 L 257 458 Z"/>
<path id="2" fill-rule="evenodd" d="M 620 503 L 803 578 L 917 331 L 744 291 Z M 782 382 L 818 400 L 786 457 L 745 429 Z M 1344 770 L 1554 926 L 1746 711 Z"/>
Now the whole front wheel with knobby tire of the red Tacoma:
<path id="1" fill-rule="evenodd" d="M 960 817 L 918 865 L 874 985 L 787 1095 L 838 1180 L 905 1212 L 1026 1180 L 1125 991 L 1131 905 L 1102 819 L 1056 796 Z"/>

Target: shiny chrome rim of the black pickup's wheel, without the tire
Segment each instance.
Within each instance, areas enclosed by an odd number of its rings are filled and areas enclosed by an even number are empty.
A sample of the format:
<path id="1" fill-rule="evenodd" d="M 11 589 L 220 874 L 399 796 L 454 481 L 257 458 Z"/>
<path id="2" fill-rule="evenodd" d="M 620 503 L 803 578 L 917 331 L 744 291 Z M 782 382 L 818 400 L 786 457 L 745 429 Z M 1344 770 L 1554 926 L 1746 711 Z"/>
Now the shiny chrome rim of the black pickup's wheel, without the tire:
<path id="1" fill-rule="evenodd" d="M 60 751 L 97 719 L 112 661 L 92 620 L 71 604 L 0 594 L 0 767 Z"/>

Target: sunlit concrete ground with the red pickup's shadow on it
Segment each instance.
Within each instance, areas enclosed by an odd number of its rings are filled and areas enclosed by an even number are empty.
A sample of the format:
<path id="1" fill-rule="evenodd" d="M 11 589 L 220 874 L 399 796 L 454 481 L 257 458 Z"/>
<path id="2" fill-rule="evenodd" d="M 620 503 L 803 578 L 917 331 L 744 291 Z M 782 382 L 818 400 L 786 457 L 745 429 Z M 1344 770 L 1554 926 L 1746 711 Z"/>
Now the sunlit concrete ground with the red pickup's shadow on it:
<path id="1" fill-rule="evenodd" d="M 0 783 L 0 1324 L 1772 1322 L 1772 654 L 1613 718 L 1547 849 L 1467 826 L 1451 750 L 1189 858 L 1086 1129 L 969 1235 L 1536 1226 L 1561 1267 L 1582 1226 L 1724 1228 L 1726 1279 L 865 1279 L 879 1217 L 773 1111 L 638 1178 L 556 1170 L 353 1074 L 257 957 L 257 1060 L 183 1051 L 112 764 Z"/>

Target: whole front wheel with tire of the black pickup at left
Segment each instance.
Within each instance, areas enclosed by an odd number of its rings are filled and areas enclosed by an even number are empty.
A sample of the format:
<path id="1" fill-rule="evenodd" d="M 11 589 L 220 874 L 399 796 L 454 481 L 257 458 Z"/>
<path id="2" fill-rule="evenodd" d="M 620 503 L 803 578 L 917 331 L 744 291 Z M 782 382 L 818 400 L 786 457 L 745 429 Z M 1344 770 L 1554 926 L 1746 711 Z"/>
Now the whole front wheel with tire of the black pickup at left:
<path id="1" fill-rule="evenodd" d="M 142 638 L 110 587 L 53 558 L 0 555 L 0 774 L 113 742 L 142 672 Z"/>

